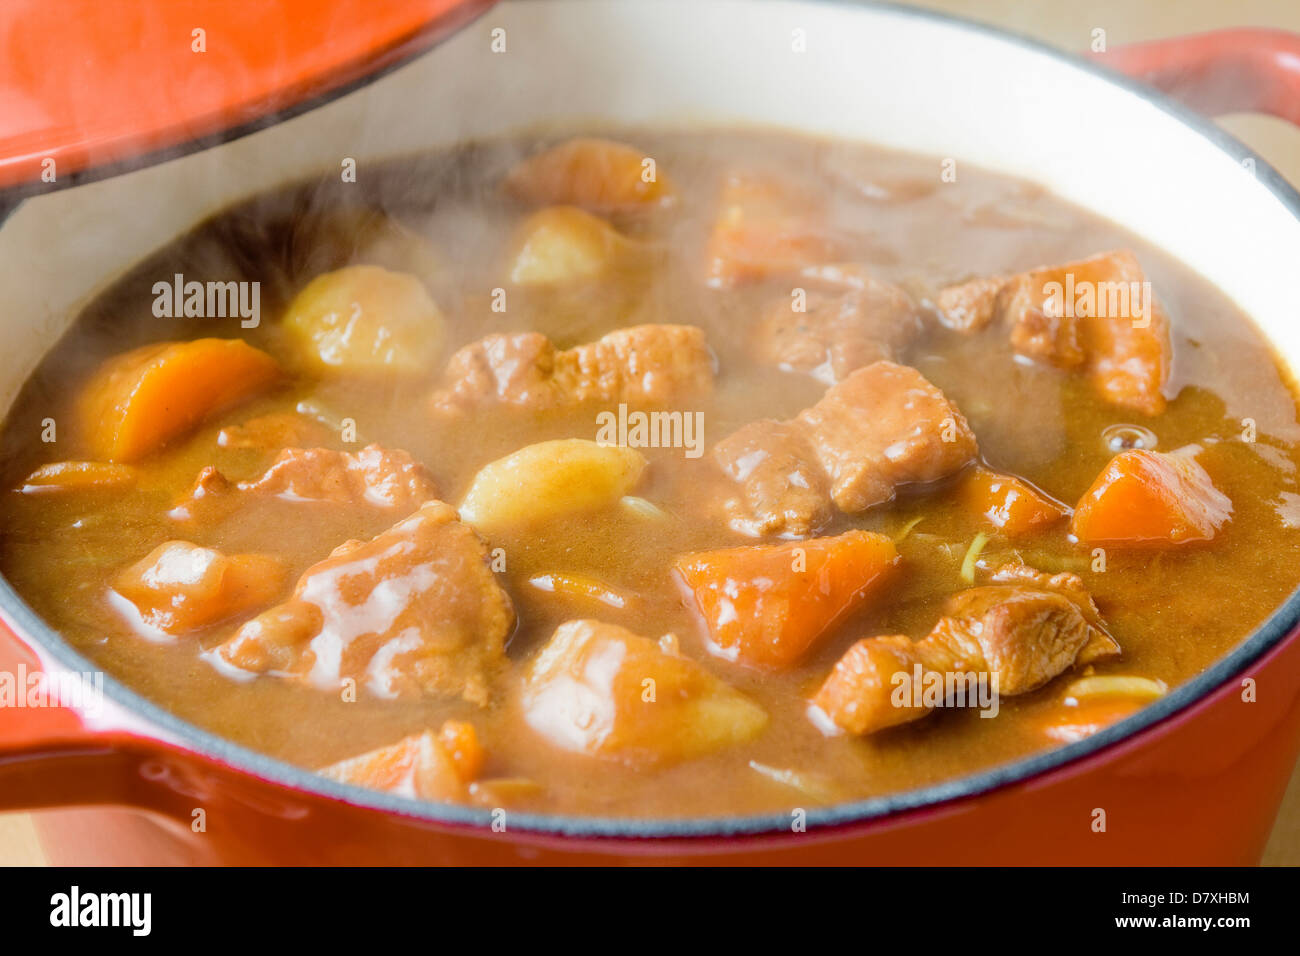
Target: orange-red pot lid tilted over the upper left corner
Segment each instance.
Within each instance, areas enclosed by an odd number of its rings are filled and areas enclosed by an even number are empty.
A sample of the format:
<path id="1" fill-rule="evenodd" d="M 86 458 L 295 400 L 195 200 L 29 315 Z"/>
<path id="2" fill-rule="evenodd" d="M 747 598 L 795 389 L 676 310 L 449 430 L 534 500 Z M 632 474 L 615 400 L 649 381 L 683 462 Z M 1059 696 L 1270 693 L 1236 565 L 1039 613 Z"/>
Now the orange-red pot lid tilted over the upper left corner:
<path id="1" fill-rule="evenodd" d="M 5 0 L 0 189 L 55 189 L 247 131 L 428 49 L 494 1 Z"/>

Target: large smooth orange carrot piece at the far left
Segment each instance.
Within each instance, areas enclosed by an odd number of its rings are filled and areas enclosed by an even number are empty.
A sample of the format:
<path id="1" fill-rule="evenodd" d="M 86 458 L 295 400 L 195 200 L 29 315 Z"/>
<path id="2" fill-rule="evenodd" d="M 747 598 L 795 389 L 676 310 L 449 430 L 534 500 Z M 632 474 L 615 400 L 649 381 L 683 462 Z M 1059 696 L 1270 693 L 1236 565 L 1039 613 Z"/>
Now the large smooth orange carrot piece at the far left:
<path id="1" fill-rule="evenodd" d="M 90 380 L 81 418 L 98 458 L 131 462 L 280 377 L 240 339 L 160 342 L 109 359 Z"/>

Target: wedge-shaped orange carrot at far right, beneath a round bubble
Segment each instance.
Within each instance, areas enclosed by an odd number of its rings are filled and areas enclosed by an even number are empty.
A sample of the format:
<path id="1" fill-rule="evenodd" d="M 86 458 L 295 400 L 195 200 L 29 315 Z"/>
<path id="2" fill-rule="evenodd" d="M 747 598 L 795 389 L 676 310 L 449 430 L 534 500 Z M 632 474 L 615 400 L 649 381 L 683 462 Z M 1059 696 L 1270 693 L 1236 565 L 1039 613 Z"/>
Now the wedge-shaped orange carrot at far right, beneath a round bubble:
<path id="1" fill-rule="evenodd" d="M 1122 451 L 1074 510 L 1070 531 L 1084 544 L 1166 548 L 1209 541 L 1232 502 L 1191 455 Z"/>

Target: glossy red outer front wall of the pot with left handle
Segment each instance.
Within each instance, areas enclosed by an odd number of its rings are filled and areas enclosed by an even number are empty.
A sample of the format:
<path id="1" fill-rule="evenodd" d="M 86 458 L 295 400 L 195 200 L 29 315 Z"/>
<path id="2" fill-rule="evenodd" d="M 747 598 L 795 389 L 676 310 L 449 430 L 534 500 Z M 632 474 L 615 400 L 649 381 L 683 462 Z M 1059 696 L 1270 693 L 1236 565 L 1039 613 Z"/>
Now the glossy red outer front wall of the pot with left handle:
<path id="1" fill-rule="evenodd" d="M 18 661 L 36 666 L 5 630 L 0 669 Z M 1243 698 L 1247 678 L 1253 701 Z M 450 826 L 281 787 L 148 736 L 87 731 L 61 708 L 0 713 L 0 809 L 65 808 L 38 818 L 55 864 L 1249 865 L 1300 752 L 1300 637 L 1182 713 L 1058 770 L 779 835 L 575 839 L 512 830 L 508 818 L 502 832 Z"/>

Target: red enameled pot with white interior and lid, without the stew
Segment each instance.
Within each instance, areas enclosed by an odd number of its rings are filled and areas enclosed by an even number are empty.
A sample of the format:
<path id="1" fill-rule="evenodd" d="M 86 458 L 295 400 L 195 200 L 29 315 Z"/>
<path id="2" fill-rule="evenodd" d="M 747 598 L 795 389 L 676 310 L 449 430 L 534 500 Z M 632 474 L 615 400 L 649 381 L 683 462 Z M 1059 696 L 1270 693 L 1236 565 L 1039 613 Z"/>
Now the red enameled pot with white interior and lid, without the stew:
<path id="1" fill-rule="evenodd" d="M 592 120 L 777 125 L 1034 179 L 1209 277 L 1300 364 L 1300 196 L 1179 103 L 1300 122 L 1300 38 L 1232 31 L 1088 62 L 859 3 L 190 0 L 144 18 L 78 1 L 57 22 L 49 7 L 0 23 L 5 406 L 95 290 L 230 202 L 339 157 Z M 5 581 L 0 618 L 0 671 L 94 670 Z M 112 679 L 101 706 L 0 708 L 0 809 L 39 809 L 57 864 L 1252 864 L 1300 752 L 1297 620 L 1292 596 L 1091 739 L 811 810 L 806 832 L 788 814 L 520 813 L 494 829 L 486 810 L 233 745 Z"/>

